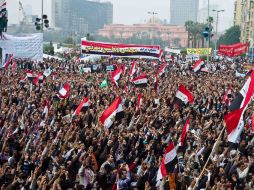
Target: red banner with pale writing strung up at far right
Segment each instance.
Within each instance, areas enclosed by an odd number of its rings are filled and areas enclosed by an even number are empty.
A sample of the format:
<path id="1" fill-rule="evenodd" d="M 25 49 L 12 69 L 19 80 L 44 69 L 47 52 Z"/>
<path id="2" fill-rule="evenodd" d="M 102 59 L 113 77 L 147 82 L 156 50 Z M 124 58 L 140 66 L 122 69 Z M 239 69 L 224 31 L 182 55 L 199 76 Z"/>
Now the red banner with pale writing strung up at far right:
<path id="1" fill-rule="evenodd" d="M 220 45 L 219 47 L 219 54 L 235 57 L 241 54 L 244 54 L 248 51 L 248 44 L 247 43 L 237 43 L 233 45 Z"/>

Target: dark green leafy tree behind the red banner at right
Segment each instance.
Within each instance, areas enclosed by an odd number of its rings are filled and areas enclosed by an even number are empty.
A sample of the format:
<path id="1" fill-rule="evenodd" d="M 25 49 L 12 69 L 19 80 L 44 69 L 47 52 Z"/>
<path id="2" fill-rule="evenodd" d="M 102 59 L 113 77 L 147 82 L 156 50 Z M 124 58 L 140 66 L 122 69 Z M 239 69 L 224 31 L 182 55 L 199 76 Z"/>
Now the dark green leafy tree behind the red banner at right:
<path id="1" fill-rule="evenodd" d="M 240 35 L 241 35 L 240 26 L 232 26 L 231 28 L 227 29 L 225 34 L 223 34 L 219 38 L 217 45 L 219 46 L 220 44 L 230 45 L 239 43 Z"/>

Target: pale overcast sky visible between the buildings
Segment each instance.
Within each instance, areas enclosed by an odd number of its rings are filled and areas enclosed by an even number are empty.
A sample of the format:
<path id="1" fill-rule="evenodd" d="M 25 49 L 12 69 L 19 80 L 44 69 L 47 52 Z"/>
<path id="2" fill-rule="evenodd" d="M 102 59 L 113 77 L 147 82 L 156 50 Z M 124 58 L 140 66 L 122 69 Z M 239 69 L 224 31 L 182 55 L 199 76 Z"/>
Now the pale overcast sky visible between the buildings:
<path id="1" fill-rule="evenodd" d="M 158 12 L 162 20 L 170 19 L 170 0 L 101 0 L 110 1 L 114 6 L 114 23 L 134 24 L 149 19 L 148 11 Z M 179 0 L 180 1 L 180 0 Z M 19 0 L 8 1 L 10 24 L 19 21 Z M 20 0 L 26 11 L 32 14 L 41 13 L 41 0 Z M 51 0 L 44 0 L 44 12 L 51 17 Z M 207 5 L 208 0 L 200 0 L 200 8 Z M 220 15 L 219 31 L 225 30 L 233 24 L 234 0 L 210 0 L 211 5 L 217 5 L 218 9 L 225 9 Z"/>

